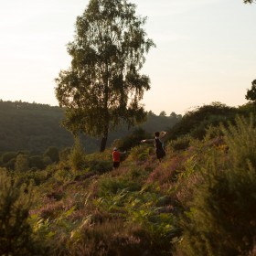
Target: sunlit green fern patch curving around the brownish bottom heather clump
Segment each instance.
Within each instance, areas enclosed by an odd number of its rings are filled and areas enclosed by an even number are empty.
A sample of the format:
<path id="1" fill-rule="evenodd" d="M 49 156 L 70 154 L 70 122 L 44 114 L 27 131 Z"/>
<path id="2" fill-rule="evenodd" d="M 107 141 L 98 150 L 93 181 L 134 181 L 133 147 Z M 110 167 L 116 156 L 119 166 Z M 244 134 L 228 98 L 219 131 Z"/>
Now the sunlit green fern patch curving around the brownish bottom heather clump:
<path id="1" fill-rule="evenodd" d="M 165 211 L 165 197 L 153 191 L 146 191 L 145 187 L 133 190 L 131 187 L 122 189 L 122 182 L 115 183 L 114 187 L 112 185 L 113 183 L 109 188 L 115 193 L 110 194 L 105 187 L 105 193 L 97 199 L 97 206 L 103 211 L 111 212 L 112 216 L 122 216 L 129 223 L 142 227 L 144 242 L 150 241 L 147 246 L 153 255 L 168 255 L 170 240 L 175 238 L 179 231 L 176 229 L 174 216 Z"/>

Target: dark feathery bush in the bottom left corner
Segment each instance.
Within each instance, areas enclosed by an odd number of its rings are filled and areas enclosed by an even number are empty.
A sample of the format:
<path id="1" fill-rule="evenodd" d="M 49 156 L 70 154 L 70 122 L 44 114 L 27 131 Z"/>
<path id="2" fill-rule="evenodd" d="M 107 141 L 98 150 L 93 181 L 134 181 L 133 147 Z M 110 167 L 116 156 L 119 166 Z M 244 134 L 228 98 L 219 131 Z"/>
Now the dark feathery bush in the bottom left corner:
<path id="1" fill-rule="evenodd" d="M 35 242 L 28 223 L 31 187 L 12 180 L 0 169 L 0 254 L 35 255 Z"/>

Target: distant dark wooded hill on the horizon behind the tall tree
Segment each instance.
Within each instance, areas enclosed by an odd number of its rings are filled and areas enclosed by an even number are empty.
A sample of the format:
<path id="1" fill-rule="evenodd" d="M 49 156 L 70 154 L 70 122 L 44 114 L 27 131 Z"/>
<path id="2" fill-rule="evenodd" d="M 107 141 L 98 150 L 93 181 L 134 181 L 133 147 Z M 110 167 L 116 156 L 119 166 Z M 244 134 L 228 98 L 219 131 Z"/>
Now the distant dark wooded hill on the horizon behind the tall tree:
<path id="1" fill-rule="evenodd" d="M 0 100 L 0 151 L 27 150 L 43 153 L 49 146 L 59 149 L 73 145 L 73 137 L 60 125 L 64 112 L 57 106 L 28 103 L 23 101 Z M 148 113 L 147 122 L 140 125 L 146 132 L 165 130 L 174 126 L 181 115 L 171 116 Z M 133 131 L 133 130 L 131 130 Z M 131 133 L 126 126 L 110 133 L 108 145 L 113 140 Z M 100 139 L 82 137 L 85 151 L 98 151 Z"/>

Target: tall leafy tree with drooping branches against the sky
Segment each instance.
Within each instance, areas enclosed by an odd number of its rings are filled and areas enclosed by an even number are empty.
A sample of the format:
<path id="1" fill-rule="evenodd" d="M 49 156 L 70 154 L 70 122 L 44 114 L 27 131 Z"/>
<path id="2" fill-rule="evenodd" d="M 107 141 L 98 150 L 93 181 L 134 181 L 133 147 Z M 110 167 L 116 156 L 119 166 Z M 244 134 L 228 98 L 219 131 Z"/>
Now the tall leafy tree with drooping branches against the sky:
<path id="1" fill-rule="evenodd" d="M 101 136 L 101 151 L 119 123 L 133 126 L 145 117 L 140 101 L 150 79 L 140 70 L 155 44 L 135 8 L 126 0 L 91 0 L 68 45 L 71 67 L 56 79 L 56 96 L 66 109 L 64 126 Z"/>

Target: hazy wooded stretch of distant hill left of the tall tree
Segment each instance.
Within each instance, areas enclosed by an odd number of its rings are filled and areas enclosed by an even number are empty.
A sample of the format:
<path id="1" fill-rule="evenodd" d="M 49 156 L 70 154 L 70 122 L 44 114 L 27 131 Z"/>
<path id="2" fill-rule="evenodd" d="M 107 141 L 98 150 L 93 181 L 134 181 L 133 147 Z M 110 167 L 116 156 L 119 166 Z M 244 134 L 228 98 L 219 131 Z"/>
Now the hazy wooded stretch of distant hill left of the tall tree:
<path id="1" fill-rule="evenodd" d="M 59 122 L 59 107 L 22 101 L 0 101 L 0 150 L 28 150 L 41 154 L 49 146 L 59 148 L 73 143 Z"/>

